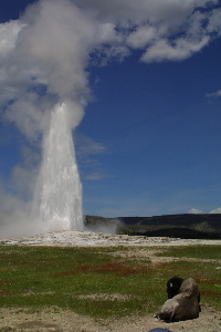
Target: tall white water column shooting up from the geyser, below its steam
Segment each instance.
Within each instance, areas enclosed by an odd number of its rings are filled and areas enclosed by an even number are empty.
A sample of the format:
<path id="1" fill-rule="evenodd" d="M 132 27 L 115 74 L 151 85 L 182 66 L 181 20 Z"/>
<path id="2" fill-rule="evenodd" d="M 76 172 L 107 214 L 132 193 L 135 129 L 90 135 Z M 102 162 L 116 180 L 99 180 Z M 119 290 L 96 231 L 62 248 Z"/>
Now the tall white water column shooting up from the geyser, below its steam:
<path id="1" fill-rule="evenodd" d="M 51 112 L 34 194 L 34 214 L 43 231 L 82 230 L 84 226 L 82 184 L 72 138 L 72 127 L 81 121 L 81 113 L 82 108 L 73 103 L 57 104 Z"/>

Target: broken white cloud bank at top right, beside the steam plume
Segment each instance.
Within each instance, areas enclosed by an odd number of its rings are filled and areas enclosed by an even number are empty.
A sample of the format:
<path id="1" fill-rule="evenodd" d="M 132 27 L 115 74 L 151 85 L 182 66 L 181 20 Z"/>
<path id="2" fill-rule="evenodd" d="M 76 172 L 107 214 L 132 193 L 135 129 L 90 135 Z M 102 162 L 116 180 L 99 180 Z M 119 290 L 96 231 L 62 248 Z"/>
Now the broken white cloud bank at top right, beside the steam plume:
<path id="1" fill-rule="evenodd" d="M 212 9 L 218 0 L 75 0 L 75 3 L 96 12 L 101 29 L 108 28 L 112 48 L 113 43 L 118 46 L 119 59 L 122 41 L 124 46 L 144 49 L 145 62 L 181 61 L 203 49 L 221 30 L 220 10 Z M 129 55 L 125 48 L 122 51 L 124 56 Z"/>

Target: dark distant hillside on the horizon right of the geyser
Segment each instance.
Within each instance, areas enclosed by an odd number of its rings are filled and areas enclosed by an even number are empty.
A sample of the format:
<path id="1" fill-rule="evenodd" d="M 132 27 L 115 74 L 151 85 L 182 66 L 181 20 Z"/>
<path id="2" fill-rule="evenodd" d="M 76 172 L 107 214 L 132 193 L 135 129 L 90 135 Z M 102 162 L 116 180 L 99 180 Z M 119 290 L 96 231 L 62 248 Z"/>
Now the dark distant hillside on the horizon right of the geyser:
<path id="1" fill-rule="evenodd" d="M 143 235 L 148 237 L 173 237 L 183 239 L 220 239 L 221 215 L 166 215 L 154 217 L 118 217 L 117 234 Z M 88 227 L 113 225 L 116 219 L 86 216 Z"/>

